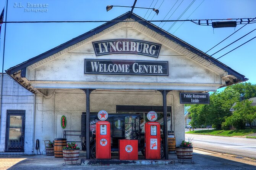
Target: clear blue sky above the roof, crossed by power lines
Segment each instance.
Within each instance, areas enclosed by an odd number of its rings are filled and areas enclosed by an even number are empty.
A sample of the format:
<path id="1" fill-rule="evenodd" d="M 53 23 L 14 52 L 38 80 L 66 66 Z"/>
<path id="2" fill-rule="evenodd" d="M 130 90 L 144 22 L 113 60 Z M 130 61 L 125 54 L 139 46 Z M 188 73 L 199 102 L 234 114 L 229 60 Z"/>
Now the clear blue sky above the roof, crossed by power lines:
<path id="1" fill-rule="evenodd" d="M 131 8 L 113 7 L 106 11 L 107 5 L 132 6 L 134 0 L 8 0 L 7 21 L 92 21 L 111 20 L 130 11 Z M 153 3 L 152 3 L 153 2 Z M 177 2 L 177 3 L 176 3 Z M 159 14 L 146 9 L 134 9 L 134 13 L 148 20 L 178 19 L 181 13 L 193 0 L 138 0 L 136 6 L 159 9 Z M 203 2 L 203 3 L 202 3 Z M 0 2 L 0 9 L 5 6 L 6 0 Z M 15 7 L 21 3 L 24 7 Z M 47 12 L 27 12 L 28 3 L 48 4 Z M 162 5 L 161 5 L 162 3 Z M 173 5 L 176 5 L 173 7 Z M 180 6 L 177 8 L 177 6 Z M 199 6 L 199 4 L 201 4 Z M 161 5 L 161 6 L 160 6 Z M 198 7 L 199 6 L 199 7 Z M 195 0 L 180 19 L 223 19 L 223 18 L 254 18 L 256 17 L 255 0 Z M 170 11 L 170 9 L 173 9 Z M 198 8 L 197 8 L 198 7 Z M 177 10 L 175 11 L 175 9 Z M 197 8 L 197 9 L 196 9 Z M 29 8 L 32 9 L 32 8 Z M 196 10 L 195 10 L 196 9 Z M 194 11 L 195 10 L 195 11 Z M 170 12 L 169 12 L 170 11 Z M 175 11 L 175 12 L 174 12 Z M 194 12 L 193 12 L 194 11 Z M 167 14 L 169 12 L 169 14 Z M 173 13 L 174 12 L 174 13 Z M 193 13 L 192 13 L 193 12 Z M 172 14 L 173 13 L 173 14 Z M 192 13 L 192 14 L 191 14 Z M 172 14 L 172 16 L 171 16 Z M 34 56 L 44 53 L 78 35 L 83 34 L 101 23 L 10 23 L 6 28 L 5 62 L 4 69 L 8 69 Z M 168 30 L 173 22 L 154 22 L 164 30 Z M 192 22 L 177 22 L 169 32 L 201 51 L 206 52 L 228 35 L 243 25 L 234 28 L 215 28 L 212 26 L 198 26 Z M 181 25 L 181 26 L 180 26 Z M 178 28 L 179 27 L 179 28 Z M 256 24 L 248 24 L 207 54 L 212 55 L 234 40 L 256 28 Z M 175 31 L 176 30 L 176 31 Z M 3 31 L 1 30 L 0 64 L 3 56 Z M 218 58 L 233 48 L 256 36 L 256 30 L 228 48 L 220 51 L 214 58 Z M 256 83 L 256 38 L 237 50 L 220 58 L 219 61 L 245 75 L 251 83 Z"/>

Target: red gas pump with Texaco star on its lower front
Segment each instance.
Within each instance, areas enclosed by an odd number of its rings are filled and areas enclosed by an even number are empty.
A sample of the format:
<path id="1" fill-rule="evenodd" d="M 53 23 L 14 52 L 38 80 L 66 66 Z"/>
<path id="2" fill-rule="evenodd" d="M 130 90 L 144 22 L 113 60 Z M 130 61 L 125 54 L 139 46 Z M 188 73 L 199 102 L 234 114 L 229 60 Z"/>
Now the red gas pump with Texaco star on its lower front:
<path id="1" fill-rule="evenodd" d="M 106 111 L 100 111 L 98 118 L 106 120 L 108 114 Z M 111 158 L 110 143 L 110 123 L 108 121 L 99 121 L 96 123 L 96 159 Z"/>

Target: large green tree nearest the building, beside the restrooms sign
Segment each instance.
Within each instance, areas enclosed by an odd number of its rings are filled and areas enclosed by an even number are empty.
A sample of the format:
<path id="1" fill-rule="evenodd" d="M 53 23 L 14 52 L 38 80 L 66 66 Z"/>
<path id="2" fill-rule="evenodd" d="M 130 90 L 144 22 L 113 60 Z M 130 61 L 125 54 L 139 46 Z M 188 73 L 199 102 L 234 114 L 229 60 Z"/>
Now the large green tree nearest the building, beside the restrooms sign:
<path id="1" fill-rule="evenodd" d="M 210 95 L 210 104 L 193 104 L 191 112 L 191 125 L 213 125 L 221 129 L 222 122 L 231 115 L 229 111 L 233 103 L 238 102 L 240 94 L 232 88 L 225 88 L 222 92 L 214 92 Z"/>

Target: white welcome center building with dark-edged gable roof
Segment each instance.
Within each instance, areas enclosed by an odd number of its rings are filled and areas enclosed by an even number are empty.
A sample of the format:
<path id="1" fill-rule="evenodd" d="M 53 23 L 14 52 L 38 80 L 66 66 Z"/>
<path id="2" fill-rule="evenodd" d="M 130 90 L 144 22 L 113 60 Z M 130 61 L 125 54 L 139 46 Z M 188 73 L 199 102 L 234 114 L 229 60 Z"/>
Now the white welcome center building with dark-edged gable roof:
<path id="1" fill-rule="evenodd" d="M 80 131 L 82 112 L 125 113 L 117 108 L 164 105 L 172 112 L 172 123 L 167 124 L 166 117 L 162 120 L 164 134 L 172 128 L 178 145 L 185 140 L 180 92 L 207 93 L 247 80 L 183 40 L 129 14 L 113 20 L 134 22 L 107 22 L 6 71 L 35 94 L 34 113 L 25 115 L 26 122 L 34 121 L 35 126 L 33 135 L 26 134 L 29 127 L 25 126 L 25 139 L 39 139 L 44 148 L 44 140 L 62 138 L 62 115 L 66 116 L 65 130 Z M 165 109 L 162 112 L 170 117 Z M 5 119 L 1 116 L 1 122 Z M 3 149 L 5 141 L 1 135 L 0 152 L 8 152 Z M 30 143 L 25 152 L 34 154 L 34 147 L 35 142 Z"/>

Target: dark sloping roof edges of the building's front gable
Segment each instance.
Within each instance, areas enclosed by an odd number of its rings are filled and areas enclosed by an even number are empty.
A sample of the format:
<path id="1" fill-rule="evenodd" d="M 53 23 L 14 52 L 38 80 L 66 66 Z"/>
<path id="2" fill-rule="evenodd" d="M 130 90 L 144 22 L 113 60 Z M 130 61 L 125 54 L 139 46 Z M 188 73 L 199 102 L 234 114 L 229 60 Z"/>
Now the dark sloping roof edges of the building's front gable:
<path id="1" fill-rule="evenodd" d="M 180 45 L 181 47 L 190 51 L 191 53 L 195 54 L 196 56 L 199 56 L 200 58 L 202 58 L 201 59 L 201 60 L 203 60 L 202 62 L 207 61 L 207 62 L 210 63 L 209 65 L 217 66 L 220 69 L 227 72 L 227 75 L 224 75 L 224 76 L 226 76 L 227 81 L 230 81 L 230 83 L 227 83 L 227 85 L 248 80 L 247 78 L 245 78 L 244 75 L 239 74 L 238 72 L 234 71 L 230 67 L 221 63 L 217 59 L 207 55 L 203 51 L 198 50 L 197 48 L 195 48 L 192 45 L 184 42 L 180 38 L 175 37 L 174 35 L 170 34 L 169 32 L 157 27 L 156 25 L 152 24 L 151 22 L 147 22 L 145 19 L 141 18 L 140 16 L 138 16 L 134 13 L 131 13 L 130 18 L 129 18 L 129 15 L 130 15 L 130 11 L 126 12 L 125 14 L 122 14 L 121 16 L 118 16 L 117 18 L 115 18 L 115 19 L 113 19 L 109 22 L 106 22 L 105 24 L 102 24 L 101 26 L 96 27 L 95 29 L 92 29 L 92 30 L 90 30 L 90 31 L 88 31 L 88 32 L 86 32 L 82 35 L 79 35 L 78 37 L 73 38 L 73 39 L 69 40 L 68 42 L 65 42 L 65 43 L 63 43 L 63 44 L 61 44 L 61 45 L 59 45 L 55 48 L 52 48 L 51 50 L 46 51 L 46 52 L 42 53 L 41 55 L 38 55 L 34 58 L 31 58 L 27 61 L 24 61 L 21 64 L 18 64 L 14 67 L 11 67 L 11 68 L 7 69 L 5 72 L 9 75 L 12 75 L 12 74 L 15 74 L 19 71 L 26 70 L 26 67 L 31 66 L 32 64 L 37 63 L 37 62 L 41 61 L 42 59 L 45 59 L 49 56 L 52 56 L 52 55 L 66 49 L 66 48 L 68 48 L 72 45 L 75 45 L 75 44 L 77 44 L 77 43 L 79 43 L 83 40 L 86 40 L 87 38 L 92 37 L 93 35 L 96 35 L 96 34 L 102 32 L 103 30 L 114 26 L 115 24 L 118 24 L 120 21 L 124 21 L 126 19 L 133 19 L 134 21 L 137 21 L 139 24 L 142 24 L 143 26 L 153 30 L 154 32 L 157 32 L 158 34 L 160 34 L 163 37 L 169 39 L 170 41 L 177 43 L 178 45 Z M 228 76 L 230 76 L 230 77 L 228 77 Z"/>

